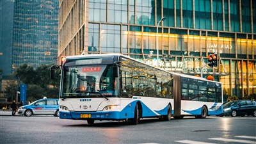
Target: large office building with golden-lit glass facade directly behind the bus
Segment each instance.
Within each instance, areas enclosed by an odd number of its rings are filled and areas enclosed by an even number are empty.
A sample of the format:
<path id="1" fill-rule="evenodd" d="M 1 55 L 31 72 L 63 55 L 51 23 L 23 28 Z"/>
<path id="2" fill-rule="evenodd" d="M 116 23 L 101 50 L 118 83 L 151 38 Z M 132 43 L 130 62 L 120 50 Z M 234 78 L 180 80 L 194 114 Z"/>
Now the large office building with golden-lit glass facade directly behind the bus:
<path id="1" fill-rule="evenodd" d="M 254 0 L 60 0 L 59 19 L 59 58 L 116 52 L 156 66 L 158 49 L 159 67 L 256 98 Z M 203 67 L 215 52 L 218 67 Z"/>

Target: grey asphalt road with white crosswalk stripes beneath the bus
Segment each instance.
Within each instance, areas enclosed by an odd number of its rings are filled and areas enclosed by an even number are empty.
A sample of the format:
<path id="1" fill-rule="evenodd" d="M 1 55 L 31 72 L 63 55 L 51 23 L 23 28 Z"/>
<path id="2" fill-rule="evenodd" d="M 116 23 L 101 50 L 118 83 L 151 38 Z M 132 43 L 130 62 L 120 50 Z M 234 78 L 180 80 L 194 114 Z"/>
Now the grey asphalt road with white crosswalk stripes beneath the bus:
<path id="1" fill-rule="evenodd" d="M 165 122 L 144 118 L 128 122 L 63 120 L 54 116 L 0 113 L 0 143 L 256 143 L 256 118 L 185 117 Z"/>

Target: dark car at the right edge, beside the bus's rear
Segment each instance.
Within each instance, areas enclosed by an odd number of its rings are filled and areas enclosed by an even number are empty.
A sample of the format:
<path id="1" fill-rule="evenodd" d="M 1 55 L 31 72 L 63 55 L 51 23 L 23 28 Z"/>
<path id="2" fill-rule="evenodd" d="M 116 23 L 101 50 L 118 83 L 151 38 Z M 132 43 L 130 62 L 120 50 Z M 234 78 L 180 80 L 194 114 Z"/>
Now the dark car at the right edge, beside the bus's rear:
<path id="1" fill-rule="evenodd" d="M 256 116 L 256 102 L 253 100 L 234 100 L 223 105 L 225 116 Z"/>

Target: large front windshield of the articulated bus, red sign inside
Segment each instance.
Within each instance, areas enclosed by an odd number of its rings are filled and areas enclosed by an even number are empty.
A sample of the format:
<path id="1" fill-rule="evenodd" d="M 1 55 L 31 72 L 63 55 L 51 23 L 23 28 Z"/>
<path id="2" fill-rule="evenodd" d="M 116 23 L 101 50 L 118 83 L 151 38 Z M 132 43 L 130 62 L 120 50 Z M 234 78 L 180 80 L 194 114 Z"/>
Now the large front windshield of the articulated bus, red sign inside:
<path id="1" fill-rule="evenodd" d="M 114 94 L 112 65 L 63 67 L 61 98 L 113 97 Z"/>

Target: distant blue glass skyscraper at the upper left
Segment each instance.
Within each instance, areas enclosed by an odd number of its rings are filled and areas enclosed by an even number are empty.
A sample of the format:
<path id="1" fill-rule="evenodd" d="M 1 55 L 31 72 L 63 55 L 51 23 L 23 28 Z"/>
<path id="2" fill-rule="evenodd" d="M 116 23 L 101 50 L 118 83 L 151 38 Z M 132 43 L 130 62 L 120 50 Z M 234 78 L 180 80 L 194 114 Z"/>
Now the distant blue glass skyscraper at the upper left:
<path id="1" fill-rule="evenodd" d="M 56 63 L 59 1 L 2 0 L 0 6 L 3 75 L 23 63 L 32 67 Z"/>

